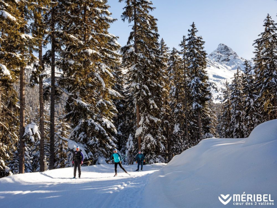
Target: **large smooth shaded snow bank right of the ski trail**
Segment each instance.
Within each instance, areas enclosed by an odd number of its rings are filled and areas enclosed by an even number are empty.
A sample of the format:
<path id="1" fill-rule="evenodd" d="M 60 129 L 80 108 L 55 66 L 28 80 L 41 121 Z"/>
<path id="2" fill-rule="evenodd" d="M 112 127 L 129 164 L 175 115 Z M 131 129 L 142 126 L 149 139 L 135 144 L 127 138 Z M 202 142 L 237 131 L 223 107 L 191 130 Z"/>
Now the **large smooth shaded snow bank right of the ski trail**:
<path id="1" fill-rule="evenodd" d="M 248 138 L 205 139 L 151 175 L 143 207 L 222 207 L 221 194 L 243 193 L 271 194 L 277 203 L 276 149 L 277 119 Z"/>

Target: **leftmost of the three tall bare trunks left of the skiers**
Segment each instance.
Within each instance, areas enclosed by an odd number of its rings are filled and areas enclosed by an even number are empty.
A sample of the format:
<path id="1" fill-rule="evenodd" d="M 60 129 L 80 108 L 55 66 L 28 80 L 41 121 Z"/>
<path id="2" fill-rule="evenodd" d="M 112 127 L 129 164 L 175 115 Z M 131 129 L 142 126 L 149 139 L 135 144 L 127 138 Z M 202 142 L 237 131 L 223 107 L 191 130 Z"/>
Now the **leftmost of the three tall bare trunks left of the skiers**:
<path id="1" fill-rule="evenodd" d="M 20 67 L 20 124 L 19 124 L 19 173 L 25 170 L 25 68 Z"/>

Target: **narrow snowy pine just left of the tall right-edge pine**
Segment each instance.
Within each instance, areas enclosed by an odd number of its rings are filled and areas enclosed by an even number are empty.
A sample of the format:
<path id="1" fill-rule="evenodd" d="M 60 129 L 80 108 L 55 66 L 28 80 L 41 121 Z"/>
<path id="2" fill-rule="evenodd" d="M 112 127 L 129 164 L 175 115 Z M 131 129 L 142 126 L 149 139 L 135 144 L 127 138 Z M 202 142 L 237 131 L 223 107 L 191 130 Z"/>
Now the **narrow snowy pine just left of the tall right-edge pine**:
<path id="1" fill-rule="evenodd" d="M 243 93 L 243 115 L 244 137 L 248 137 L 251 131 L 261 123 L 259 106 L 256 101 L 257 95 L 254 87 L 254 75 L 249 61 L 244 62 L 244 71 L 242 74 L 242 93 Z"/>

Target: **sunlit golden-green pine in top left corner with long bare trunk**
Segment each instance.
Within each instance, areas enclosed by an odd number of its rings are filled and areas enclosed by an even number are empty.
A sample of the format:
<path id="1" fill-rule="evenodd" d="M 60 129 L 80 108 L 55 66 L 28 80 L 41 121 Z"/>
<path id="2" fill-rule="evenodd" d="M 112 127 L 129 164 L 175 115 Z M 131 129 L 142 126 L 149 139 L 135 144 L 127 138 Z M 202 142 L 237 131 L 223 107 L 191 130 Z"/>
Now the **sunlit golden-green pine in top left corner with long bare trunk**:
<path id="1" fill-rule="evenodd" d="M 34 55 L 32 55 L 33 37 L 30 35 L 27 27 L 27 22 L 30 19 L 29 11 L 32 4 L 27 1 L 5 1 L 1 2 L 0 7 L 1 68 L 3 74 L 10 73 L 11 70 L 17 75 L 20 74 L 19 172 L 24 173 L 24 73 L 26 65 L 34 61 Z M 0 100 L 2 99 L 0 98 Z"/>

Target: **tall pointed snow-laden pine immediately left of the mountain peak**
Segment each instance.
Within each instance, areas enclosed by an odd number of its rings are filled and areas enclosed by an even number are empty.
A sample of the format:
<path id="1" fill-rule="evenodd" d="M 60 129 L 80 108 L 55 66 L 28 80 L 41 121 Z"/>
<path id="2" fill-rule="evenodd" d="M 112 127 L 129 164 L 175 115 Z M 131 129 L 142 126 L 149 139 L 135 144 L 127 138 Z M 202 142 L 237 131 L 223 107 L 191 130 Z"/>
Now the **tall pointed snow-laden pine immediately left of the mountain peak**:
<path id="1" fill-rule="evenodd" d="M 207 104 L 211 99 L 211 92 L 208 85 L 208 76 L 205 68 L 207 67 L 206 56 L 204 51 L 204 41 L 201 36 L 196 36 L 198 30 L 194 22 L 191 25 L 191 30 L 188 30 L 187 41 L 187 68 L 190 76 L 188 84 L 191 99 L 192 111 L 197 118 L 197 132 L 194 135 L 194 143 L 197 144 L 203 138 L 203 128 L 201 118 L 207 118 Z M 207 133 L 207 132 L 205 132 Z"/>

